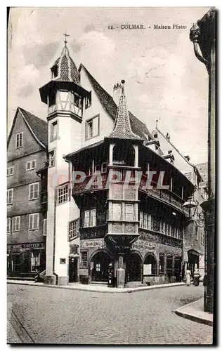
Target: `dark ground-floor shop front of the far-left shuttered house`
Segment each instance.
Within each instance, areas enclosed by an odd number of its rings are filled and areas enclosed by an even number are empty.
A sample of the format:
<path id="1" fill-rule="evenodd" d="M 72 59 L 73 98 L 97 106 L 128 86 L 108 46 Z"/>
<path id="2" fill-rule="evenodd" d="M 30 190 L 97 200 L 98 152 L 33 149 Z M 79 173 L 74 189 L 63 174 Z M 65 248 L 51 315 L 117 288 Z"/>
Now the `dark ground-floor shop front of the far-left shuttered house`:
<path id="1" fill-rule="evenodd" d="M 44 243 L 7 245 L 7 276 L 32 277 L 46 267 L 46 246 Z"/>

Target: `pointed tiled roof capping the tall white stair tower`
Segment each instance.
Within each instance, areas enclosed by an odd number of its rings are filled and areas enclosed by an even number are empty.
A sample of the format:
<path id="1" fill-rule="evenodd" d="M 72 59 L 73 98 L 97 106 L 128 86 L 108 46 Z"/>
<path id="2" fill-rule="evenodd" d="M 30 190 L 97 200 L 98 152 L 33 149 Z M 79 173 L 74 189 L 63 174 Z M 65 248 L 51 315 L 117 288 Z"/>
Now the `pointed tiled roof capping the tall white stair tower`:
<path id="1" fill-rule="evenodd" d="M 74 81 L 74 83 L 80 85 L 80 74 L 77 70 L 74 61 L 70 57 L 70 52 L 65 45 L 63 51 L 54 65 L 58 67 L 58 77 L 55 78 L 57 81 Z"/>

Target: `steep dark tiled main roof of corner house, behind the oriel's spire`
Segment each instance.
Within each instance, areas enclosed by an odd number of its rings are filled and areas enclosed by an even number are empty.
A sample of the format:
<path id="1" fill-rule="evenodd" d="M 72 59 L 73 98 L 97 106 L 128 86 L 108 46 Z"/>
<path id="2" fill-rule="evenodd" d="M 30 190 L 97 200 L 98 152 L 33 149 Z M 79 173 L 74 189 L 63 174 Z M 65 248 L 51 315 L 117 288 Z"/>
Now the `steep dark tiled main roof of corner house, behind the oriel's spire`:
<path id="1" fill-rule="evenodd" d="M 84 68 L 87 77 L 89 78 L 89 81 L 91 82 L 91 85 L 93 86 L 94 91 L 96 92 L 96 95 L 98 99 L 100 100 L 101 105 L 103 106 L 104 110 L 110 114 L 110 117 L 112 117 L 113 121 L 115 121 L 116 116 L 117 116 L 117 105 L 115 101 L 113 100 L 112 96 L 105 91 L 100 84 L 98 84 L 98 81 L 96 81 L 95 78 L 89 73 L 89 71 L 84 67 L 84 65 L 80 65 L 79 70 L 81 67 Z M 139 119 L 137 119 L 130 111 L 129 111 L 129 120 L 131 123 L 131 129 L 133 133 L 138 135 L 144 140 L 144 134 L 148 135 L 148 137 L 153 140 L 153 136 L 148 131 L 147 126 L 141 122 Z"/>

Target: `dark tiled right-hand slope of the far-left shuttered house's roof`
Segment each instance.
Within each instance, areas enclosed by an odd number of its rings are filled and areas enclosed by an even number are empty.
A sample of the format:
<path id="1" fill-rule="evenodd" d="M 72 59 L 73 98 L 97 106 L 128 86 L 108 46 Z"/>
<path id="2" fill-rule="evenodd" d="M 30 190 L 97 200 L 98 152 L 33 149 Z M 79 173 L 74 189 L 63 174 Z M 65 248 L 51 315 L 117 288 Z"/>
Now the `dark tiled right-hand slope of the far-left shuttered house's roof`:
<path id="1" fill-rule="evenodd" d="M 18 107 L 28 126 L 30 126 L 32 133 L 34 134 L 37 141 L 44 145 L 48 146 L 48 124 L 43 119 L 35 116 L 34 114 Z"/>

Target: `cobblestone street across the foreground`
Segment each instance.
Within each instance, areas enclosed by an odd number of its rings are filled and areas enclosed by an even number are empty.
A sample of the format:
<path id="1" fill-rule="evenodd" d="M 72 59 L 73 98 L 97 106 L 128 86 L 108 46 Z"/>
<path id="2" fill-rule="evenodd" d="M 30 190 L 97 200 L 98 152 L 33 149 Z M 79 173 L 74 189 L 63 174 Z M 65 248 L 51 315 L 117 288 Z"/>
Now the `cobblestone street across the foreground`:
<path id="1" fill-rule="evenodd" d="M 8 303 L 34 343 L 209 344 L 211 326 L 174 313 L 203 293 L 202 286 L 95 293 L 8 284 Z"/>

